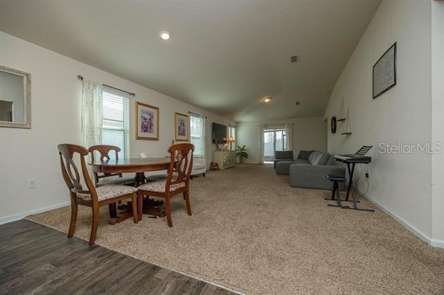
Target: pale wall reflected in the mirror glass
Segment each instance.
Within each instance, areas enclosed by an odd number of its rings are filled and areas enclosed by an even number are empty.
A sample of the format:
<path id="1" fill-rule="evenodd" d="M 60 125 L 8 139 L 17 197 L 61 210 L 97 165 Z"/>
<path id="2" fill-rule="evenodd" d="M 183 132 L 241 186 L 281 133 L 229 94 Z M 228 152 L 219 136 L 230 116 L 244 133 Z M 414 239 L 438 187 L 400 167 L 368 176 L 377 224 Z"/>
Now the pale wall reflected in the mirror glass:
<path id="1" fill-rule="evenodd" d="M 0 72 L 0 100 L 12 102 L 13 122 L 24 122 L 23 77 Z"/>

